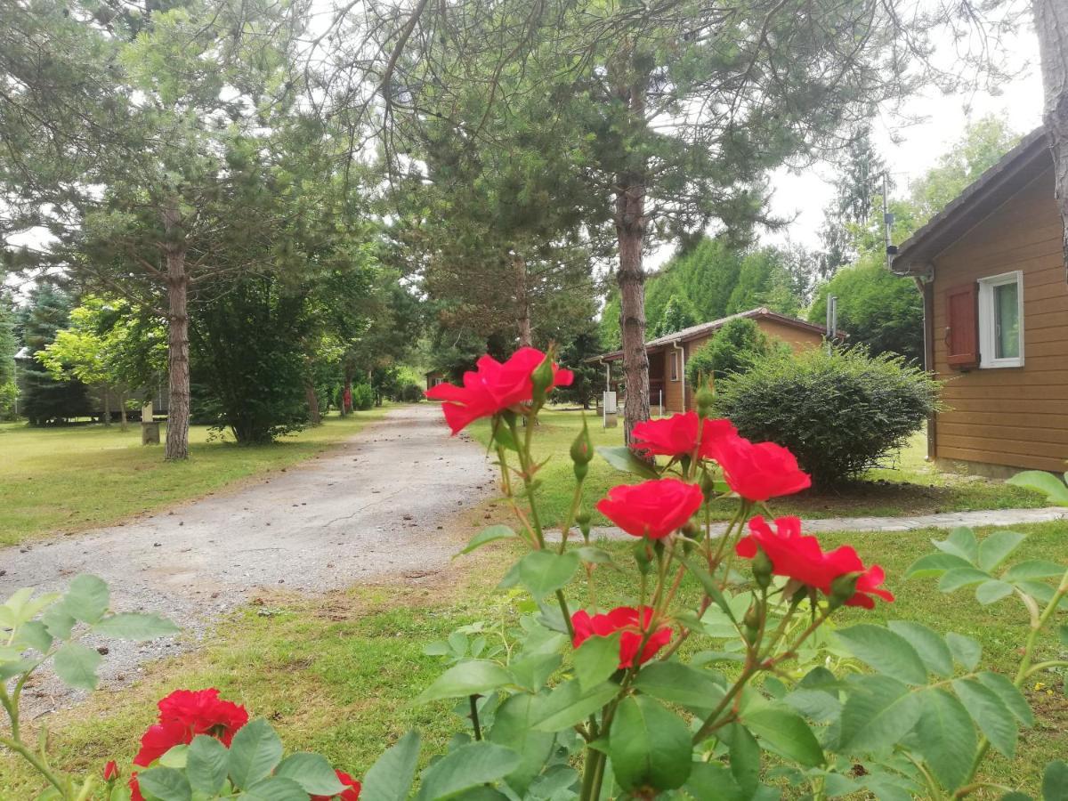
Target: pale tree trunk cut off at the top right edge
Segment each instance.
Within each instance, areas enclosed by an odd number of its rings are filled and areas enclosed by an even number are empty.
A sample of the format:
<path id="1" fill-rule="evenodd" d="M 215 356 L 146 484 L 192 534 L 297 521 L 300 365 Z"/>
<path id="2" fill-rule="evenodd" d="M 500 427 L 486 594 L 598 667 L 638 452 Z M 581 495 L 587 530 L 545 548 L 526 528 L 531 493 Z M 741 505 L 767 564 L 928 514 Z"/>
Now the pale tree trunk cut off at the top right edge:
<path id="1" fill-rule="evenodd" d="M 1053 152 L 1054 197 L 1063 223 L 1062 242 L 1068 268 L 1068 3 L 1032 0 L 1046 103 L 1042 122 Z"/>

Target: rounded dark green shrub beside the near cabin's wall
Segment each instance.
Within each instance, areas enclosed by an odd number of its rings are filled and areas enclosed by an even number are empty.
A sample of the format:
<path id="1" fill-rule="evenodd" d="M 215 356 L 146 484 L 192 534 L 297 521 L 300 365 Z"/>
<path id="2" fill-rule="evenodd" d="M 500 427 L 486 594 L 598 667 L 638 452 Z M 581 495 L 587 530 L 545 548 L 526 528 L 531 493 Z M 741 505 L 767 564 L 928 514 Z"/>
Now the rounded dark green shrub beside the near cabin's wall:
<path id="1" fill-rule="evenodd" d="M 939 407 L 941 383 L 901 357 L 812 348 L 755 360 L 717 384 L 714 409 L 788 447 L 816 485 L 885 464 Z"/>

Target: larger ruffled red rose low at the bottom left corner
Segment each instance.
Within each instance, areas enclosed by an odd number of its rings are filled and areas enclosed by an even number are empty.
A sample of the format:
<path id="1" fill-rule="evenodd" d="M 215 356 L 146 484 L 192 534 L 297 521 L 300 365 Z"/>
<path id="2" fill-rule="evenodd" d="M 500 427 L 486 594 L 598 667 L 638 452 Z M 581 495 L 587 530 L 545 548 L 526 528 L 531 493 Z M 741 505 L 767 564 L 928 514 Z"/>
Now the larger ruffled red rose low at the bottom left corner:
<path id="1" fill-rule="evenodd" d="M 175 690 L 159 702 L 159 723 L 141 738 L 134 764 L 146 767 L 175 745 L 189 744 L 197 735 L 210 735 L 230 745 L 234 735 L 249 722 L 244 706 L 219 698 L 219 691 Z"/>

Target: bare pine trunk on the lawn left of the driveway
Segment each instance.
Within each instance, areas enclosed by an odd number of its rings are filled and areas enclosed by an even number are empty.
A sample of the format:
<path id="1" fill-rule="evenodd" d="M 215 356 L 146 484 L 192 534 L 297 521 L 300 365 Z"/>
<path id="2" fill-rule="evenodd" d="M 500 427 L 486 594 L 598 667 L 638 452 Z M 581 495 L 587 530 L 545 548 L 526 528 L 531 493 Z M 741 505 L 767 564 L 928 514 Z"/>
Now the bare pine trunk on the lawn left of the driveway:
<path id="1" fill-rule="evenodd" d="M 163 210 L 167 232 L 167 368 L 170 397 L 167 409 L 167 452 L 169 461 L 189 458 L 189 277 L 186 248 L 178 235 L 178 209 Z"/>

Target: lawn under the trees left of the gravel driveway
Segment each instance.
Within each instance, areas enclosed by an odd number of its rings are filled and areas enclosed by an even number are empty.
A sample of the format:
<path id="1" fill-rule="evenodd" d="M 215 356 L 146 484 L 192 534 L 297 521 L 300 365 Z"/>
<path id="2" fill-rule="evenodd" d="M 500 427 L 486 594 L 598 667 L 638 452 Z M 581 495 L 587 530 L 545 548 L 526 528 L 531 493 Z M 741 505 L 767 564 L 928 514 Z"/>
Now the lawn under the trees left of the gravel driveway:
<path id="1" fill-rule="evenodd" d="M 383 409 L 329 417 L 270 445 L 241 446 L 206 426 L 189 429 L 189 459 L 141 445 L 138 425 L 32 428 L 0 424 L 0 546 L 80 531 L 213 492 L 287 467 L 356 434 Z M 163 434 L 160 435 L 161 437 Z"/>

